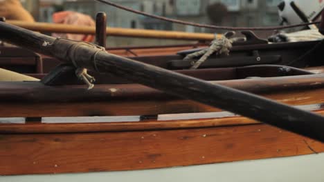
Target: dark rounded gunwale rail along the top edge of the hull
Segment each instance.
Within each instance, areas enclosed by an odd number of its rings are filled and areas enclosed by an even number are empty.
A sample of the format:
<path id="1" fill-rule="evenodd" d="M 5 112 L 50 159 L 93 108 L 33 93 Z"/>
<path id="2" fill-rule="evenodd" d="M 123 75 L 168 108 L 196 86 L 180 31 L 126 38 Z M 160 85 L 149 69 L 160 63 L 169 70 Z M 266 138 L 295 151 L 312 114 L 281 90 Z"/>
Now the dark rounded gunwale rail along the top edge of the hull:
<path id="1" fill-rule="evenodd" d="M 202 77 L 204 72 L 181 72 L 190 76 Z M 211 74 L 212 72 L 206 72 Z M 217 73 L 217 72 L 215 72 Z M 324 74 L 310 74 L 292 77 L 272 77 L 256 79 L 239 79 L 226 81 L 210 81 L 213 84 L 252 92 L 255 94 L 271 94 L 276 92 L 303 92 L 324 87 Z M 85 85 L 46 86 L 38 82 L 0 82 L 1 102 L 87 102 L 87 101 L 155 101 L 156 99 L 177 99 L 170 94 L 139 84 L 103 84 L 87 90 Z"/>

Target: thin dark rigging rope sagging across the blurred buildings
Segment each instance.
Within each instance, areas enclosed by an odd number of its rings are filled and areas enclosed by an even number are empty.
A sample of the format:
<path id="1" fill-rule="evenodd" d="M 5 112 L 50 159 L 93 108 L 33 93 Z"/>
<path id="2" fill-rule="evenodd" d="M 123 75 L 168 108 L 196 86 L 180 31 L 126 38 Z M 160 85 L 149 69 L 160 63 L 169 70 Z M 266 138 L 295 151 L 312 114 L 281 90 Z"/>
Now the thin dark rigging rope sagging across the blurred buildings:
<path id="1" fill-rule="evenodd" d="M 169 21 L 169 22 L 172 22 L 172 23 L 179 23 L 179 24 L 183 24 L 183 25 L 187 25 L 187 26 L 196 26 L 196 27 L 210 28 L 210 29 L 215 29 L 215 30 L 233 30 L 233 31 L 237 31 L 237 30 L 282 30 L 282 29 L 287 29 L 287 28 L 296 28 L 296 27 L 309 26 L 309 25 L 314 25 L 314 24 L 321 23 L 320 21 L 316 21 L 316 22 L 301 23 L 301 24 L 296 24 L 296 25 L 291 25 L 291 26 L 270 26 L 270 27 L 212 26 L 212 25 L 207 25 L 207 24 L 192 23 L 192 22 L 188 22 L 188 21 L 181 21 L 181 20 L 177 20 L 177 19 L 170 19 L 170 18 L 167 18 L 167 17 L 161 17 L 159 15 L 134 10 L 132 8 L 127 8 L 125 6 L 121 6 L 118 3 L 113 3 L 113 2 L 111 2 L 109 0 L 96 0 L 96 1 L 99 1 L 100 3 L 108 4 L 110 6 L 114 6 L 116 8 L 122 9 L 122 10 L 126 10 L 128 12 L 133 12 L 135 14 L 141 14 L 141 15 L 143 15 L 145 17 L 151 17 L 151 18 L 154 18 L 154 19 L 159 19 L 159 20 L 162 20 L 162 21 Z"/>

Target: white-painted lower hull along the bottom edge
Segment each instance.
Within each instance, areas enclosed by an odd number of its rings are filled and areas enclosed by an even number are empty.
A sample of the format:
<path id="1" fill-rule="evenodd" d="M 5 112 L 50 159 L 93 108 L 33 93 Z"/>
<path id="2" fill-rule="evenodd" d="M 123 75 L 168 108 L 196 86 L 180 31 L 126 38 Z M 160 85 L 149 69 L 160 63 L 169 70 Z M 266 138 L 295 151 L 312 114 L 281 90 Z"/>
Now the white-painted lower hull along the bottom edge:
<path id="1" fill-rule="evenodd" d="M 324 180 L 323 154 L 123 172 L 0 176 L 0 181 L 313 181 Z M 312 168 L 309 168 L 312 166 Z"/>

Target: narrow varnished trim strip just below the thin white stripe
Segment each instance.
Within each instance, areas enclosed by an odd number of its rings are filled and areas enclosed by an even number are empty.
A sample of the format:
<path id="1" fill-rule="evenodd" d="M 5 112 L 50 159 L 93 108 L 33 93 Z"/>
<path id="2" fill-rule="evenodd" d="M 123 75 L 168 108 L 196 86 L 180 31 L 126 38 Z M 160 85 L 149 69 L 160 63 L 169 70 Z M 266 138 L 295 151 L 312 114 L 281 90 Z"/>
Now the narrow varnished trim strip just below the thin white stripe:
<path id="1" fill-rule="evenodd" d="M 314 112 L 324 115 L 324 110 L 316 110 Z M 111 123 L 64 123 L 63 119 L 61 123 L 0 124 L 0 134 L 129 132 L 145 130 L 179 130 L 188 128 L 210 128 L 255 124 L 260 124 L 260 122 L 244 117 Z"/>

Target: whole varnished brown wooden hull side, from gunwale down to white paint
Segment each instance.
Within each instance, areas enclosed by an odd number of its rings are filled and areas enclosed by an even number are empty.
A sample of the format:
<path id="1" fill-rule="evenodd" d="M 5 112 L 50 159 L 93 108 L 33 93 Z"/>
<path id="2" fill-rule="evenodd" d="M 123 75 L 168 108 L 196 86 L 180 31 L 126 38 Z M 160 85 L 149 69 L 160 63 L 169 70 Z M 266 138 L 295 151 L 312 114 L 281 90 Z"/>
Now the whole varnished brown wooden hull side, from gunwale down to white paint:
<path id="1" fill-rule="evenodd" d="M 246 88 L 283 103 L 308 105 L 303 107 L 324 114 L 321 74 L 273 80 L 276 78 L 224 84 Z M 251 87 L 249 83 L 257 86 Z M 262 88 L 262 83 L 271 85 L 269 90 Z M 278 87 L 280 84 L 285 89 Z M 206 119 L 150 118 L 147 114 L 220 110 L 140 85 L 101 85 L 91 92 L 86 92 L 82 85 L 55 88 L 37 83 L 0 85 L 1 117 L 28 118 L 24 124 L 0 125 L 1 175 L 147 170 L 324 152 L 323 143 L 235 115 L 215 113 Z M 132 92 L 127 92 L 129 89 Z M 93 123 L 85 119 L 85 123 L 69 123 L 66 118 L 66 121 L 60 118 L 61 123 L 37 121 L 39 117 L 94 115 L 142 117 L 125 122 L 102 119 Z"/>

